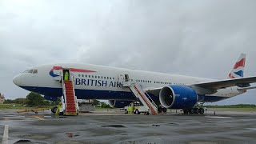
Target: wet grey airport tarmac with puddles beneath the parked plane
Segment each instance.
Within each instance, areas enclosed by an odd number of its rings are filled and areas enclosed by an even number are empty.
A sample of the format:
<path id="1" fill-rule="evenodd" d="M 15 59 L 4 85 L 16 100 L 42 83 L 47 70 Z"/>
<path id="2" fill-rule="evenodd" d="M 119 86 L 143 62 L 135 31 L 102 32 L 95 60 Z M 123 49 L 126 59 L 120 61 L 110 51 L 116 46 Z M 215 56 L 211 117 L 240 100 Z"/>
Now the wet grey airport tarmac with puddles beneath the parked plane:
<path id="1" fill-rule="evenodd" d="M 49 110 L 38 114 L 0 110 L 0 142 L 256 143 L 256 111 L 135 115 L 116 110 L 58 117 Z"/>

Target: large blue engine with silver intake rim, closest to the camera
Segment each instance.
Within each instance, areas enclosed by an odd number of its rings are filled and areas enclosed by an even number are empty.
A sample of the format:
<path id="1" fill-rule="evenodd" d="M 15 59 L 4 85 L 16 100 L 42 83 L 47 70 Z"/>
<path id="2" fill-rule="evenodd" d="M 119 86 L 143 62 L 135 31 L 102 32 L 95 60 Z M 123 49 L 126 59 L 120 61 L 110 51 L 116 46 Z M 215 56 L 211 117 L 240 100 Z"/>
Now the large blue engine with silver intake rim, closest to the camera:
<path id="1" fill-rule="evenodd" d="M 170 85 L 160 90 L 162 106 L 171 109 L 189 109 L 198 102 L 198 94 L 189 86 Z"/>

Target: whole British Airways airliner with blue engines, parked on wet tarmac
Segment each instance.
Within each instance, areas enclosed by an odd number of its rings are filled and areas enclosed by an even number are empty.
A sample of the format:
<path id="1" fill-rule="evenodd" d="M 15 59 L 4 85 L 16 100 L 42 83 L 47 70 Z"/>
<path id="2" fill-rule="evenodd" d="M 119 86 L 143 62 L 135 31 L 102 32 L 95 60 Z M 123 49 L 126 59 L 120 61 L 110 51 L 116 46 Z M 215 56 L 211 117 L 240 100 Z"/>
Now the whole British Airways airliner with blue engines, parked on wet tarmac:
<path id="1" fill-rule="evenodd" d="M 14 77 L 15 85 L 56 100 L 63 95 L 62 77 L 65 71 L 73 76 L 78 99 L 109 100 L 111 107 L 124 107 L 138 101 L 123 80 L 136 82 L 150 95 L 158 110 L 182 109 L 185 114 L 203 114 L 204 102 L 218 102 L 255 89 L 250 86 L 256 77 L 243 77 L 246 54 L 241 54 L 228 78 L 216 80 L 177 74 L 162 74 L 142 70 L 128 70 L 110 66 L 60 63 L 34 66 Z M 125 76 L 125 77 L 124 77 Z"/>

